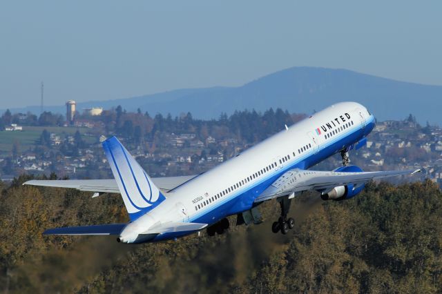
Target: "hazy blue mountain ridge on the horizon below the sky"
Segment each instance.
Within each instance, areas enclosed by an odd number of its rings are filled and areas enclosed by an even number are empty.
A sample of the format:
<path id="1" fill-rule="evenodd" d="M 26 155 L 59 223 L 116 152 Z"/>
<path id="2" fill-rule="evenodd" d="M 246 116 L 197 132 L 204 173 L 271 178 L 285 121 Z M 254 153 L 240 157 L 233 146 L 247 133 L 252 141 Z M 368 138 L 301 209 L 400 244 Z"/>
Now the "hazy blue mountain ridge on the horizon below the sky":
<path id="1" fill-rule="evenodd" d="M 121 105 L 128 111 L 157 112 L 173 116 L 191 112 L 193 117 L 211 119 L 235 110 L 258 111 L 282 108 L 307 114 L 338 101 L 357 101 L 377 119 L 404 119 L 412 113 L 421 124 L 442 124 L 442 86 L 395 81 L 351 70 L 294 67 L 280 70 L 239 87 L 181 89 L 112 101 L 90 101 L 77 109 Z M 38 108 L 35 108 L 37 110 Z M 17 109 L 32 110 L 32 108 Z M 35 111 L 34 110 L 34 111 Z M 46 108 L 64 113 L 64 106 Z M 37 111 L 35 111 L 37 112 Z"/>

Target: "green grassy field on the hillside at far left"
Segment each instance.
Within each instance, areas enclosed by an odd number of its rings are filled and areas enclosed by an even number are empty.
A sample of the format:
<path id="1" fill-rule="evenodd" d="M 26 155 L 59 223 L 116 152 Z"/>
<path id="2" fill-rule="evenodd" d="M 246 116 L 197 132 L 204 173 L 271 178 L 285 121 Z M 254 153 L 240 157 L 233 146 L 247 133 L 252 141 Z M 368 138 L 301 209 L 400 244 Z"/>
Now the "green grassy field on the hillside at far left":
<path id="1" fill-rule="evenodd" d="M 95 137 L 86 137 L 84 133 L 90 133 L 88 128 L 76 128 L 76 127 L 58 127 L 58 126 L 23 126 L 23 131 L 1 131 L 0 132 L 0 154 L 9 154 L 12 150 L 12 144 L 18 141 L 20 144 L 20 150 L 28 150 L 30 146 L 38 144 L 39 137 L 43 130 L 48 130 L 49 133 L 55 133 L 61 138 L 66 135 L 74 135 L 77 130 L 83 135 L 84 141 L 87 143 L 95 142 Z"/>

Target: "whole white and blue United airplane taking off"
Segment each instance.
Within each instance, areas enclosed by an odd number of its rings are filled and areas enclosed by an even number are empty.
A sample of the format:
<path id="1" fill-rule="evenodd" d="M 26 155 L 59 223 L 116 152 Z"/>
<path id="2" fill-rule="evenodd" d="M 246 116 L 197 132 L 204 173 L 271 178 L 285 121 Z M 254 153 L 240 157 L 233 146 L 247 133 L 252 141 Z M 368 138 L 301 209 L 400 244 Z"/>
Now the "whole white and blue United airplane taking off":
<path id="1" fill-rule="evenodd" d="M 116 137 L 102 146 L 115 179 L 31 180 L 24 184 L 76 188 L 121 194 L 130 222 L 52 228 L 45 235 L 116 235 L 117 242 L 141 244 L 177 239 L 206 230 L 222 234 L 236 215 L 236 224 L 260 224 L 258 207 L 276 199 L 280 216 L 273 233 L 287 234 L 294 219 L 287 217 L 291 199 L 316 191 L 323 200 L 350 199 L 371 180 L 414 175 L 420 170 L 364 172 L 349 164 L 349 151 L 366 144 L 374 116 L 361 104 L 342 102 L 244 150 L 200 175 L 151 178 Z M 309 170 L 340 153 L 343 164 L 332 171 Z"/>

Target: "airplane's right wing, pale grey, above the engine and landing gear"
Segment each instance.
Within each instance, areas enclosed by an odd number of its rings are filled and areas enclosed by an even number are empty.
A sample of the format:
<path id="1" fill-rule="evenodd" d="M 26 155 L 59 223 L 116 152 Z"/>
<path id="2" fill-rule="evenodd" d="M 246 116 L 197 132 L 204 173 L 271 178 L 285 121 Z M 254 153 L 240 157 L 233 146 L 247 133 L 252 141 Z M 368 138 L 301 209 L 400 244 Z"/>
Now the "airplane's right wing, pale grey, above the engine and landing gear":
<path id="1" fill-rule="evenodd" d="M 291 195 L 308 190 L 324 192 L 336 186 L 345 186 L 354 184 L 355 187 L 361 186 L 374 179 L 385 179 L 398 175 L 414 175 L 421 170 L 393 170 L 361 173 L 345 173 L 334 171 L 318 170 L 289 170 L 280 176 L 273 184 L 269 186 L 255 202 L 262 202 L 276 197 Z"/>

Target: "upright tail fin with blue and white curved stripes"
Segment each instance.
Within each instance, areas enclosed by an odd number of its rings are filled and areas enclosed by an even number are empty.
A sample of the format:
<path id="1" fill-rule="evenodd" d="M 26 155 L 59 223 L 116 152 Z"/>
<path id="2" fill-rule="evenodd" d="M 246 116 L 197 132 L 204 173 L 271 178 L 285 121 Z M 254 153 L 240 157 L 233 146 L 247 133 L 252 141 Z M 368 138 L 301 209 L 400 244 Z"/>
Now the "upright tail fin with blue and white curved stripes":
<path id="1" fill-rule="evenodd" d="M 117 138 L 111 137 L 102 144 L 131 220 L 144 215 L 166 199 Z"/>

